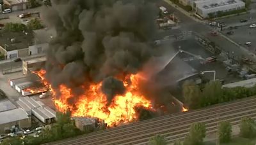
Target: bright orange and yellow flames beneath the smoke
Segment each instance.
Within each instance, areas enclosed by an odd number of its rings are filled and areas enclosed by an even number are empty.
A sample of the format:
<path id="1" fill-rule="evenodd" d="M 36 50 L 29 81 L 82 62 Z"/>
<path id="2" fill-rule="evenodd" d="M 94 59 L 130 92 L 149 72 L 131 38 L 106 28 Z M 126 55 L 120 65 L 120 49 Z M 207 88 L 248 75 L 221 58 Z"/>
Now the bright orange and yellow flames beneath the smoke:
<path id="1" fill-rule="evenodd" d="M 96 117 L 104 120 L 109 127 L 112 127 L 120 125 L 120 123 L 138 120 L 136 107 L 144 107 L 145 109 L 154 111 L 150 100 L 146 99 L 139 91 L 140 76 L 138 75 L 131 74 L 125 77 L 123 83 L 126 92 L 124 95 L 116 95 L 110 104 L 108 104 L 106 95 L 100 90 L 102 82 L 91 84 L 86 89 L 86 92 L 77 97 L 78 100 L 74 104 L 70 104 L 68 103 L 68 99 L 74 97 L 70 88 L 60 85 L 57 97 L 56 90 L 51 88 L 51 85 L 47 83 L 44 77 L 46 71 L 41 70 L 34 73 L 40 76 L 45 86 L 49 87 L 56 109 L 60 112 L 69 110 L 72 116 Z M 183 107 L 182 111 L 188 111 L 188 109 Z"/>

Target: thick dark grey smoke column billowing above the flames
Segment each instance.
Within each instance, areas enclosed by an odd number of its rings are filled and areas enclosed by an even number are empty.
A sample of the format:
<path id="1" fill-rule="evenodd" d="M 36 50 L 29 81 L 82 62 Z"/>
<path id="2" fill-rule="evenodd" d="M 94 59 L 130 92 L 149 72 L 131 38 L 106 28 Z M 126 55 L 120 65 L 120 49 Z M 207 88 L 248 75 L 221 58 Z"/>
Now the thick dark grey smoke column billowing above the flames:
<path id="1" fill-rule="evenodd" d="M 152 0 L 52 0 L 43 15 L 57 31 L 47 53 L 47 79 L 76 93 L 103 81 L 111 101 L 125 92 L 113 77 L 141 71 L 154 55 L 148 42 L 156 34 L 156 16 Z"/>

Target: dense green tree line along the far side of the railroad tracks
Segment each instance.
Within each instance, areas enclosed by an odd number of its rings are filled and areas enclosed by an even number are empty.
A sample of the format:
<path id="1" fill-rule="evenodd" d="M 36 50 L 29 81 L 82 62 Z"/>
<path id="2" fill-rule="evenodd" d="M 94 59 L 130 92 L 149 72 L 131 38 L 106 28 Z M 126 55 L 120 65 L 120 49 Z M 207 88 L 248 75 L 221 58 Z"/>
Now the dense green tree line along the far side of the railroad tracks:
<path id="1" fill-rule="evenodd" d="M 235 88 L 221 88 L 220 81 L 210 81 L 204 86 L 196 85 L 193 81 L 186 81 L 182 85 L 182 95 L 184 97 L 184 104 L 189 109 L 199 109 L 221 102 L 228 102 L 230 100 L 242 99 L 256 95 L 256 86 L 252 88 L 235 87 Z"/>

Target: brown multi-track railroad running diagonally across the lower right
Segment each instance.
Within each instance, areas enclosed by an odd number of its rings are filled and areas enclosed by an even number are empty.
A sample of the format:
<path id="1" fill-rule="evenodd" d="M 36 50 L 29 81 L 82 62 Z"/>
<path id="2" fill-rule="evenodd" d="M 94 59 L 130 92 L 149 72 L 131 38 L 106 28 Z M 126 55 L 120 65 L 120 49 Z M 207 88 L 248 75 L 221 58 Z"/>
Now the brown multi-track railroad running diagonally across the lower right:
<path id="1" fill-rule="evenodd" d="M 173 142 L 176 139 L 183 139 L 188 134 L 191 123 L 204 122 L 207 133 L 211 133 L 216 132 L 218 121 L 228 120 L 232 125 L 237 125 L 245 116 L 256 118 L 256 97 L 196 111 L 161 116 L 48 144 L 147 144 L 148 139 L 156 134 L 164 135 L 167 142 Z"/>

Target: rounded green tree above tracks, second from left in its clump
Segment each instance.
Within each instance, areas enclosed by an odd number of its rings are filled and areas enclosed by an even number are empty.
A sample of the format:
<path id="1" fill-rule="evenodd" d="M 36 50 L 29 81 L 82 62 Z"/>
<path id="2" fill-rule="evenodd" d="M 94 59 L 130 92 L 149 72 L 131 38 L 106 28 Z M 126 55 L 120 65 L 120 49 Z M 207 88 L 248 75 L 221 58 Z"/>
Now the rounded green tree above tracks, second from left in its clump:
<path id="1" fill-rule="evenodd" d="M 203 89 L 203 106 L 217 104 L 219 100 L 221 100 L 223 97 L 223 90 L 221 86 L 222 85 L 220 81 L 210 81 L 205 85 Z"/>

